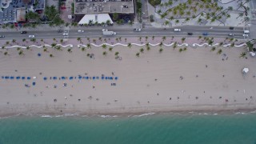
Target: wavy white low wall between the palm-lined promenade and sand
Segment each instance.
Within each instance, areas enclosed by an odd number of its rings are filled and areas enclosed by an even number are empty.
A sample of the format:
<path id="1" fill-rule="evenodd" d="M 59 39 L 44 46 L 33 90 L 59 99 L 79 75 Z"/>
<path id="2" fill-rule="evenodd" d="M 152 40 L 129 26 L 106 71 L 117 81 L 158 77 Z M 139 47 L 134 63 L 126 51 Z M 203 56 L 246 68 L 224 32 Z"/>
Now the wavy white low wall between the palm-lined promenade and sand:
<path id="1" fill-rule="evenodd" d="M 166 44 L 166 43 L 162 43 L 162 45 L 164 46 L 173 46 L 175 42 L 172 42 L 170 44 Z M 150 46 L 159 46 L 160 43 L 155 43 L 155 44 L 152 44 L 152 43 L 148 43 Z M 128 46 L 128 44 L 122 44 L 122 43 L 115 43 L 115 44 L 109 44 L 109 43 L 102 43 L 100 45 L 96 45 L 94 43 L 90 43 L 90 45 L 92 46 L 96 46 L 96 47 L 99 47 L 99 46 L 103 46 L 103 45 L 106 45 L 106 46 Z M 138 43 L 131 43 L 131 45 L 134 45 L 134 46 L 146 46 L 146 43 L 143 43 L 143 44 L 138 44 Z M 202 44 L 198 44 L 198 43 L 193 43 L 192 46 L 195 47 L 195 46 L 199 46 L 199 47 L 202 47 L 202 46 L 219 46 L 219 43 L 215 43 L 214 45 L 209 45 L 208 43 L 202 43 Z M 43 46 L 48 46 L 48 47 L 52 47 L 48 44 L 45 44 L 45 45 L 42 45 L 42 46 L 36 46 L 36 45 L 31 45 L 29 47 L 36 47 L 36 48 L 42 48 Z M 62 45 L 62 44 L 57 44 L 56 46 L 62 46 L 64 48 L 70 46 L 71 48 L 73 48 L 73 45 L 72 44 L 67 44 L 67 45 Z M 78 48 L 80 46 L 84 46 L 84 47 L 87 47 L 86 45 L 83 45 L 83 44 L 78 44 Z M 182 44 L 178 44 L 177 43 L 177 46 L 190 46 L 188 43 L 182 43 Z M 231 46 L 231 44 L 226 44 L 226 45 L 222 45 L 224 47 L 227 47 L 227 46 Z M 242 47 L 242 46 L 247 46 L 246 43 L 242 43 L 240 45 L 234 45 L 234 47 Z M 11 48 L 17 48 L 17 47 L 20 47 L 22 49 L 26 49 L 27 46 L 18 46 L 18 45 L 15 45 L 15 46 L 6 46 L 7 49 L 11 49 Z"/>

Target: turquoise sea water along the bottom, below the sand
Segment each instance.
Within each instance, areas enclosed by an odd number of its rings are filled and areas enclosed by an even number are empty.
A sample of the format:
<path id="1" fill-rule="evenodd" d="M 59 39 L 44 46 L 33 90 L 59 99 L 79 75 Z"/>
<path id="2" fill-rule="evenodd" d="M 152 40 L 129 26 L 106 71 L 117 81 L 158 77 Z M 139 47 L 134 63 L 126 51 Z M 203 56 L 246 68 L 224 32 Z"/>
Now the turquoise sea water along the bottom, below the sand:
<path id="1" fill-rule="evenodd" d="M 256 114 L 0 119 L 0 144 L 256 144 Z"/>

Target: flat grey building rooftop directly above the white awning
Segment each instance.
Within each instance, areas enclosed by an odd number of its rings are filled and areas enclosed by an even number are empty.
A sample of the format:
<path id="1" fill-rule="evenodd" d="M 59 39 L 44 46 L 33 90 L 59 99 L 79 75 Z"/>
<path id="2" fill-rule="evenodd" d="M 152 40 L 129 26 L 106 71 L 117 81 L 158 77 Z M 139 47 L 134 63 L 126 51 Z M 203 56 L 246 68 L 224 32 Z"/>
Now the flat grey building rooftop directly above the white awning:
<path id="1" fill-rule="evenodd" d="M 120 13 L 133 14 L 132 0 L 103 1 L 103 0 L 75 0 L 74 14 L 105 14 Z"/>

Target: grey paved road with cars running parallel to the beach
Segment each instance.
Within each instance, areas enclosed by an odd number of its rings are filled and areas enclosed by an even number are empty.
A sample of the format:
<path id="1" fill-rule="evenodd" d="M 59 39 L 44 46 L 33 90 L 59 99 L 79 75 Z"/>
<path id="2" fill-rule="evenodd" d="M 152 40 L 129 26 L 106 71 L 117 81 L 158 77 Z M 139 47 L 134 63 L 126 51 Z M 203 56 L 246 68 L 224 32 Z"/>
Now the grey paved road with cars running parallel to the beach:
<path id="1" fill-rule="evenodd" d="M 243 29 L 241 27 L 235 27 L 234 30 L 230 30 L 229 27 L 224 26 L 182 26 L 181 32 L 174 32 L 174 28 L 170 29 L 157 29 L 157 28 L 144 28 L 141 32 L 134 32 L 132 28 L 118 28 L 110 27 L 108 30 L 113 30 L 117 34 L 112 37 L 143 37 L 143 36 L 178 36 L 178 37 L 198 37 L 203 32 L 208 33 L 208 37 L 229 37 L 228 34 L 234 34 L 234 38 L 243 38 Z M 87 38 L 87 37 L 108 37 L 102 35 L 101 27 L 94 27 L 92 29 L 85 28 L 84 33 L 78 33 L 78 30 L 70 30 L 69 38 Z M 192 36 L 187 33 L 193 33 Z M 58 33 L 57 30 L 45 30 L 45 31 L 28 31 L 27 34 L 20 34 L 19 31 L 2 32 L 0 35 L 5 35 L 6 38 L 2 39 L 20 39 L 29 38 L 29 35 L 35 35 L 35 38 L 64 38 L 62 33 Z"/>

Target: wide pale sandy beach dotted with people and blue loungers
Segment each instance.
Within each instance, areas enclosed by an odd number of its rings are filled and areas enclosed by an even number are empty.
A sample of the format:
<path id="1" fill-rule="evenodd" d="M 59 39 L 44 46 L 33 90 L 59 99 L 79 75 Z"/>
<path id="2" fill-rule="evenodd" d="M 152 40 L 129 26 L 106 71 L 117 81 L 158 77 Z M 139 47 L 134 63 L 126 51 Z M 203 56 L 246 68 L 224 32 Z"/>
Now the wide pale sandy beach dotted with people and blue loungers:
<path id="1" fill-rule="evenodd" d="M 48 53 L 31 48 L 23 50 L 22 56 L 16 49 L 8 50 L 10 55 L 2 52 L 1 77 L 32 79 L 0 78 L 0 114 L 123 114 L 256 108 L 256 59 L 248 54 L 247 58 L 239 58 L 245 51 L 242 47 L 218 47 L 214 52 L 210 47 L 187 47 L 179 52 L 178 48 L 162 46 L 162 53 L 159 46 L 150 46 L 150 50 L 146 46 L 114 46 L 112 51 L 109 47 L 104 50 L 92 46 L 82 51 L 74 45 L 72 53 L 64 48 L 62 51 L 48 48 Z M 142 47 L 144 52 L 136 57 Z M 222 54 L 216 54 L 220 48 Z M 107 54 L 103 55 L 103 51 Z M 115 59 L 117 51 L 120 58 Z M 49 54 L 54 57 L 50 58 Z M 244 67 L 250 69 L 245 77 Z M 101 79 L 102 74 L 118 79 Z M 89 79 L 79 80 L 78 75 Z M 68 79 L 59 79 L 62 76 Z M 74 79 L 70 80 L 71 76 Z M 32 82 L 36 82 L 35 86 Z"/>

